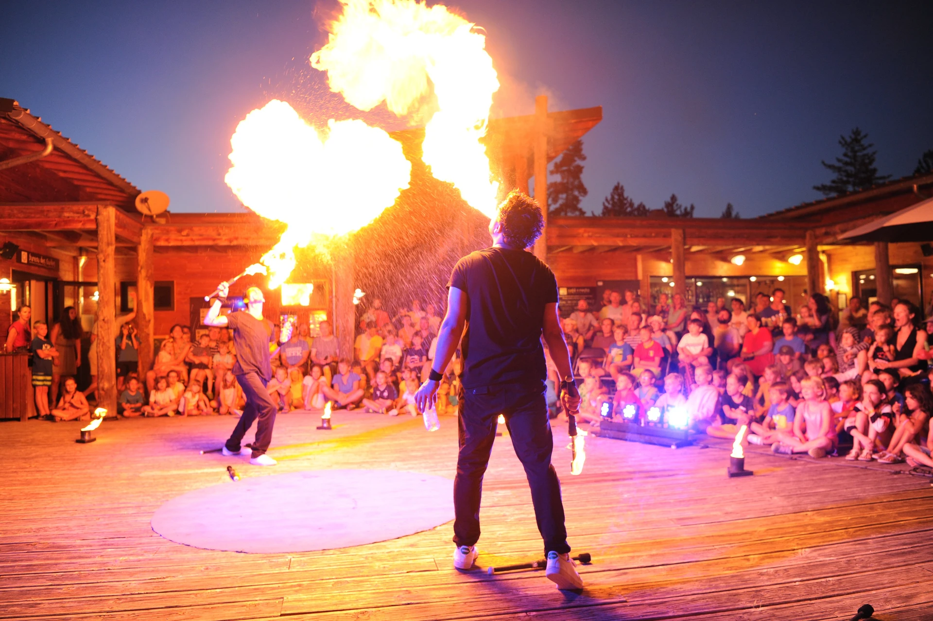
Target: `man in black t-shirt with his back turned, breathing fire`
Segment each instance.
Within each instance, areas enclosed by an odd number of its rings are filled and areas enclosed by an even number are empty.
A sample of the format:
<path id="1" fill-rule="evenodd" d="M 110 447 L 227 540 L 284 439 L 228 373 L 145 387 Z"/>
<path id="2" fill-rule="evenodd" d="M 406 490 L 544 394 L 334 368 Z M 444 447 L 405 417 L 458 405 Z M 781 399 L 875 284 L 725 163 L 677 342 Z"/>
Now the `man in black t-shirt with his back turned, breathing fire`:
<path id="1" fill-rule="evenodd" d="M 535 200 L 513 191 L 489 224 L 493 246 L 457 262 L 448 283 L 447 315 L 440 326 L 431 374 L 415 399 L 422 411 L 434 405 L 441 373 L 462 336 L 460 452 L 453 480 L 454 567 L 469 569 L 478 555 L 482 476 L 502 414 L 531 487 L 548 558 L 546 574 L 559 588 L 576 589 L 583 583 L 569 558 L 561 484 L 550 463 L 554 441 L 545 402 L 542 336 L 564 381 L 573 381 L 573 376 L 557 314 L 554 273 L 526 251 L 543 227 Z M 579 397 L 567 391 L 562 400 L 570 411 L 579 406 Z"/>

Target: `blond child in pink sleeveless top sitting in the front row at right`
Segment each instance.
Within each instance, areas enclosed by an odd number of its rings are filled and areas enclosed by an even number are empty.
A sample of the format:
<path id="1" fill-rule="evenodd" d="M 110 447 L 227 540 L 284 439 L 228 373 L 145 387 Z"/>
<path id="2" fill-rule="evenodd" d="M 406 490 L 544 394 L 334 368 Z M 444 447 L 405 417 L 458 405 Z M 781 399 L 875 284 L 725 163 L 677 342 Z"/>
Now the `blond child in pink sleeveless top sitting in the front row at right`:
<path id="1" fill-rule="evenodd" d="M 801 381 L 803 403 L 794 413 L 793 434 L 781 434 L 771 445 L 773 453 L 809 453 L 811 457 L 826 457 L 838 443 L 832 411 L 825 399 L 826 388 L 818 377 Z"/>

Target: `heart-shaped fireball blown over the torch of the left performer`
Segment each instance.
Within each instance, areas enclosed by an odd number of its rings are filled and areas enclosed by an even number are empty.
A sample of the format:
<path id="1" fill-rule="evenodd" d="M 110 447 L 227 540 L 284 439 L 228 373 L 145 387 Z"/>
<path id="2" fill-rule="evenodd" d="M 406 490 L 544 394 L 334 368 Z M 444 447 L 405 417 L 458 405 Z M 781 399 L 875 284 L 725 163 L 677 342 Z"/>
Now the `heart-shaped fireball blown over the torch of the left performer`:
<path id="1" fill-rule="evenodd" d="M 224 181 L 246 207 L 288 225 L 260 259 L 272 289 L 295 268 L 296 246 L 365 227 L 411 177 L 411 162 L 385 131 L 331 119 L 322 135 L 279 100 L 246 115 L 230 146 Z"/>

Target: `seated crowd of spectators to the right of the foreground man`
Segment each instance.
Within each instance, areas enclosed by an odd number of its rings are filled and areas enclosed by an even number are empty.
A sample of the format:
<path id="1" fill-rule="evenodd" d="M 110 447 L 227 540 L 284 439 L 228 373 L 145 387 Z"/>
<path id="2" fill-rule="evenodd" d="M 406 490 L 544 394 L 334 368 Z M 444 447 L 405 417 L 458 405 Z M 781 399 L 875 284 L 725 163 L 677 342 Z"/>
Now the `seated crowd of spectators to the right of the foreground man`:
<path id="1" fill-rule="evenodd" d="M 840 313 L 820 294 L 796 310 L 785 296 L 759 293 L 750 308 L 691 308 L 679 294 L 642 304 L 631 291 L 606 292 L 599 310 L 580 300 L 564 319 L 580 417 L 653 411 L 723 438 L 745 425 L 747 442 L 776 453 L 933 466 L 933 317 L 906 300 L 866 309 L 855 297 Z"/>

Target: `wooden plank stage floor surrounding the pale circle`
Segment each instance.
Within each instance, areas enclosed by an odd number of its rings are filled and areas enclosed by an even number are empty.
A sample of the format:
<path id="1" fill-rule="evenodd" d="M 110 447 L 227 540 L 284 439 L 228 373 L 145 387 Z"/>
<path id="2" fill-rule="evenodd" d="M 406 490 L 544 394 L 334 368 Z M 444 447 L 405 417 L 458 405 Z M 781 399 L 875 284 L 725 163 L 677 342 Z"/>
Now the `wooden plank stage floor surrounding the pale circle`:
<path id="1" fill-rule="evenodd" d="M 229 417 L 81 424 L 4 422 L 0 486 L 2 619 L 933 619 L 933 489 L 898 467 L 787 459 L 759 449 L 728 479 L 728 443 L 668 449 L 588 438 L 569 475 L 555 429 L 570 544 L 591 552 L 581 593 L 543 573 L 489 577 L 451 565 L 452 525 L 390 542 L 299 554 L 176 545 L 149 528 L 163 502 L 242 476 L 395 468 L 453 477 L 456 424 L 337 412 L 276 423 L 273 468 L 199 455 Z M 252 435 L 247 436 L 251 438 Z M 714 446 L 715 445 L 715 446 Z M 903 469 L 903 467 L 899 468 Z M 233 485 L 233 483 L 230 483 Z M 499 438 L 486 476 L 479 563 L 541 555 L 522 469 Z"/>

